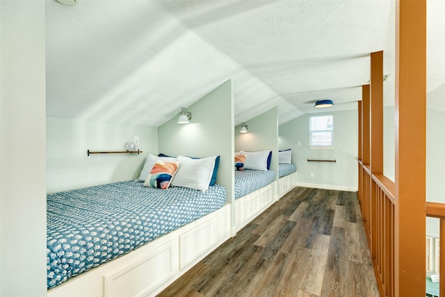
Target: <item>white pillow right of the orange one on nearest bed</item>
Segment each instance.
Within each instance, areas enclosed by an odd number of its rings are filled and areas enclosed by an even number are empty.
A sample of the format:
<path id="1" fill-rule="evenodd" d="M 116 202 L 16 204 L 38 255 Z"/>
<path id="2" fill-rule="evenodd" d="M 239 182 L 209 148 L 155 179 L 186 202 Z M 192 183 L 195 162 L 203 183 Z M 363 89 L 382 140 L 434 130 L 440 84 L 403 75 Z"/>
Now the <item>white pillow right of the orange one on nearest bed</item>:
<path id="1" fill-rule="evenodd" d="M 207 191 L 211 176 L 213 175 L 215 159 L 216 156 L 209 156 L 203 159 L 178 156 L 177 161 L 181 162 L 181 166 L 179 166 L 170 186 L 182 186 L 203 192 Z"/>

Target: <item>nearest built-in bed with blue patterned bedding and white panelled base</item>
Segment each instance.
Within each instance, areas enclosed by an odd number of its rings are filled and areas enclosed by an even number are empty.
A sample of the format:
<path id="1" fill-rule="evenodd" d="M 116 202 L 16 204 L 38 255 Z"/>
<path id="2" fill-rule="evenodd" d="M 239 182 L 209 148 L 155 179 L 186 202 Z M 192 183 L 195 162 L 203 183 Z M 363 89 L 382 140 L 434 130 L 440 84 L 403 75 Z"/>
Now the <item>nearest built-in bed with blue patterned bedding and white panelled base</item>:
<path id="1" fill-rule="evenodd" d="M 48 296 L 146 296 L 179 278 L 230 235 L 226 188 L 209 185 L 213 166 L 202 191 L 147 186 L 153 171 L 142 170 L 145 182 L 47 195 Z"/>

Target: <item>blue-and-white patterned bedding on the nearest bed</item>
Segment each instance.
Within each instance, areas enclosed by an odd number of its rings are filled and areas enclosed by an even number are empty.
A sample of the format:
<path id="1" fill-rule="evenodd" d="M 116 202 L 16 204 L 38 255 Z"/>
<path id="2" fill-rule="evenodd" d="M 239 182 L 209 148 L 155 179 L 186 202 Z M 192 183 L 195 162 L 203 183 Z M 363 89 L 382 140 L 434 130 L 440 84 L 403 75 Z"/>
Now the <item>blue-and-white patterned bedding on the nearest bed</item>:
<path id="1" fill-rule="evenodd" d="M 47 195 L 47 287 L 124 255 L 220 207 L 226 189 L 116 182 Z"/>

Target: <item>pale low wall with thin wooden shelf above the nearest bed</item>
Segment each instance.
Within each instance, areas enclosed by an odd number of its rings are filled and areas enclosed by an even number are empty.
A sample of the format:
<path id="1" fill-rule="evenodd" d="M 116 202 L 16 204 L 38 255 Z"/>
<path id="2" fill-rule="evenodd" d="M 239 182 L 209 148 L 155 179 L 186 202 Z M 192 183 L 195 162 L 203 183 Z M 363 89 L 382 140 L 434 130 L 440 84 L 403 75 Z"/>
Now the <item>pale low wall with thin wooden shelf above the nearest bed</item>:
<path id="1" fill-rule="evenodd" d="M 133 136 L 139 136 L 143 154 L 87 154 L 125 151 Z M 157 151 L 154 127 L 47 118 L 47 193 L 136 179 L 145 156 Z"/>

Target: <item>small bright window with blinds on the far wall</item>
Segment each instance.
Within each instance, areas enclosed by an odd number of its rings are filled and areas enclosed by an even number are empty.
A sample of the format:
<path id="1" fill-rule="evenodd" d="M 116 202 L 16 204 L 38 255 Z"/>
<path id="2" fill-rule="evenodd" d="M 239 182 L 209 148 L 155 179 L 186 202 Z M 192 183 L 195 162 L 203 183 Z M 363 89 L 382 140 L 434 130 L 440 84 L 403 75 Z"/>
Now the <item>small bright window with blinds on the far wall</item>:
<path id="1" fill-rule="evenodd" d="M 334 115 L 310 115 L 309 138 L 310 147 L 332 147 L 334 145 Z"/>

